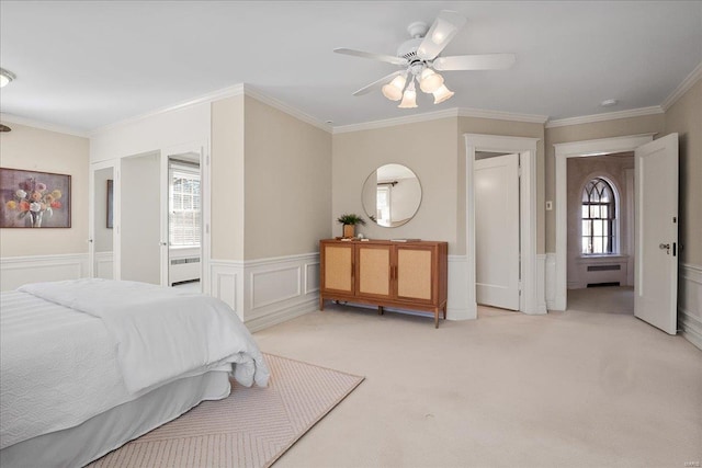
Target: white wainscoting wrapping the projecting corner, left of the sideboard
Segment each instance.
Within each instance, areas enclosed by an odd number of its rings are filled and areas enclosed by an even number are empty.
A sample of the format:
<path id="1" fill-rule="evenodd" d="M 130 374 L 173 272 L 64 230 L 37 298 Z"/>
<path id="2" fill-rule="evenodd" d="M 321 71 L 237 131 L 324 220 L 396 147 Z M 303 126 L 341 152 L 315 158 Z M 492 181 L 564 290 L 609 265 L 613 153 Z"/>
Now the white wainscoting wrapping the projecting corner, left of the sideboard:
<path id="1" fill-rule="evenodd" d="M 318 309 L 319 254 L 210 262 L 210 294 L 231 306 L 251 331 Z"/>

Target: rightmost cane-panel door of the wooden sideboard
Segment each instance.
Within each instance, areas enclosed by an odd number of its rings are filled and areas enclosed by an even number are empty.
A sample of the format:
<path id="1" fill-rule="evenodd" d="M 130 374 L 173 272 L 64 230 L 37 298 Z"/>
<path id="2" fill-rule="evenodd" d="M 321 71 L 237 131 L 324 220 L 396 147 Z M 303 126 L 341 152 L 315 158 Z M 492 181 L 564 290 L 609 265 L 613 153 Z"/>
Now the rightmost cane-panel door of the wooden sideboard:
<path id="1" fill-rule="evenodd" d="M 434 303 L 433 276 L 437 254 L 434 247 L 396 248 L 397 298 L 431 305 Z"/>

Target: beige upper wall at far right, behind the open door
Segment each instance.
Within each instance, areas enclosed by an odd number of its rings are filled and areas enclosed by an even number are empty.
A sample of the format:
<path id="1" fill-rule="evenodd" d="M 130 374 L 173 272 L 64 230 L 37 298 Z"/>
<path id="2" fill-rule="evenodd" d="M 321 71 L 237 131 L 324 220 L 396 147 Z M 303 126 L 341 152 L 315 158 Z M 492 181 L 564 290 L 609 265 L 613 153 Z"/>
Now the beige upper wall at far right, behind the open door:
<path id="1" fill-rule="evenodd" d="M 665 133 L 680 141 L 680 261 L 702 265 L 702 80 L 666 112 Z"/>

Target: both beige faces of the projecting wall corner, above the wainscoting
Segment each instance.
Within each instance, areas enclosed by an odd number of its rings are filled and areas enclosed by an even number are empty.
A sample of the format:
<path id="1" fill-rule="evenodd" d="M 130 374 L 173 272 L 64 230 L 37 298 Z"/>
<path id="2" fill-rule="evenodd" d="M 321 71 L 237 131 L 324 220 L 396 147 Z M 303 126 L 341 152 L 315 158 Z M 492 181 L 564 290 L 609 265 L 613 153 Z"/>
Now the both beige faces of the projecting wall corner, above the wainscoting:
<path id="1" fill-rule="evenodd" d="M 329 133 L 250 96 L 213 103 L 213 259 L 316 252 L 330 213 Z"/>

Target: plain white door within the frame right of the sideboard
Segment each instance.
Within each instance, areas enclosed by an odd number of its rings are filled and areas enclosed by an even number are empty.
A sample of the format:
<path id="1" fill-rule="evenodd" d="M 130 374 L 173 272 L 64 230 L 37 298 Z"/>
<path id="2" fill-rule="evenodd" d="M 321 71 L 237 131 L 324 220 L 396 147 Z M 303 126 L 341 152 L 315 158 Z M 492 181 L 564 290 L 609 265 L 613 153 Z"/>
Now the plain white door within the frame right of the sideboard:
<path id="1" fill-rule="evenodd" d="M 519 310 L 519 155 L 474 168 L 477 303 Z"/>

